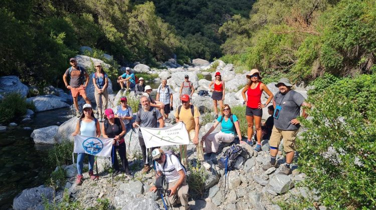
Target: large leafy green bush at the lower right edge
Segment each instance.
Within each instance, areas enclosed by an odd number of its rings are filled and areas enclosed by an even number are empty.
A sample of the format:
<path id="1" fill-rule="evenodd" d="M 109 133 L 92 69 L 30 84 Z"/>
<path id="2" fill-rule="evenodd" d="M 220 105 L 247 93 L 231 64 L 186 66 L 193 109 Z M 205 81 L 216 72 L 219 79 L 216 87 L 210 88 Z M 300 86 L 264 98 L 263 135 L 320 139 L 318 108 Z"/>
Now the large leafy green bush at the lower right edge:
<path id="1" fill-rule="evenodd" d="M 330 78 L 330 76 L 328 76 Z M 312 120 L 297 140 L 305 184 L 332 208 L 374 208 L 376 75 L 344 78 L 311 99 Z"/>

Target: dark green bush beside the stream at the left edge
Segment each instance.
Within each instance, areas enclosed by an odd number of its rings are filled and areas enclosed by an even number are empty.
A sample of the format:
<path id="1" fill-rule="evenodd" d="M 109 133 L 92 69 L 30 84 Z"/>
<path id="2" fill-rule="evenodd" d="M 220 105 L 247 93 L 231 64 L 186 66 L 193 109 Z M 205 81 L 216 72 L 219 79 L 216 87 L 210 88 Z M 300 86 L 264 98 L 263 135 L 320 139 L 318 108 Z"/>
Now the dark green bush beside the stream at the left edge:
<path id="1" fill-rule="evenodd" d="M 23 116 L 27 109 L 35 109 L 33 103 L 26 101 L 19 93 L 8 93 L 0 100 L 0 123 L 7 123 Z"/>

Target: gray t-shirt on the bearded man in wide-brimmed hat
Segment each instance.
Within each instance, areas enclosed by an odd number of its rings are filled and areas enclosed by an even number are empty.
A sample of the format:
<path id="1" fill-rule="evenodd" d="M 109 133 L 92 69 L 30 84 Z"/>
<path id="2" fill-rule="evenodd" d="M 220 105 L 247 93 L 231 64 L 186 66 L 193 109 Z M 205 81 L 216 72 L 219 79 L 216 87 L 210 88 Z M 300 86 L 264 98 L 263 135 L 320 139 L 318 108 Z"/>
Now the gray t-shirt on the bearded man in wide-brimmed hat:
<path id="1" fill-rule="evenodd" d="M 278 119 L 274 118 L 274 126 L 282 130 L 298 129 L 300 124 L 291 124 L 291 120 L 300 115 L 300 106 L 305 100 L 303 95 L 294 90 L 288 91 L 285 95 L 277 92 L 274 100 L 276 105 L 282 107 Z"/>

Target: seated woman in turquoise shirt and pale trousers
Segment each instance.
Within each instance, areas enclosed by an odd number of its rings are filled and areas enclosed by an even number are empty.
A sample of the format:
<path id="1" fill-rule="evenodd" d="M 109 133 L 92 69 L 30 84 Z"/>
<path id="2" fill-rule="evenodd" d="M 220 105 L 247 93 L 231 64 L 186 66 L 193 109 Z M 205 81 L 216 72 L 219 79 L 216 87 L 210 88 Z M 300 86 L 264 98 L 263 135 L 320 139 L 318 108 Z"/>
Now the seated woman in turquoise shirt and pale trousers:
<path id="1" fill-rule="evenodd" d="M 214 129 L 216 129 L 219 123 L 221 123 L 222 126 L 221 131 L 211 133 Z M 220 141 L 233 142 L 235 139 L 235 131 L 238 133 L 239 139 L 242 139 L 238 117 L 231 113 L 229 104 L 224 104 L 222 108 L 222 115 L 217 118 L 217 121 L 202 138 L 205 141 L 205 152 L 208 155 L 217 153 Z"/>

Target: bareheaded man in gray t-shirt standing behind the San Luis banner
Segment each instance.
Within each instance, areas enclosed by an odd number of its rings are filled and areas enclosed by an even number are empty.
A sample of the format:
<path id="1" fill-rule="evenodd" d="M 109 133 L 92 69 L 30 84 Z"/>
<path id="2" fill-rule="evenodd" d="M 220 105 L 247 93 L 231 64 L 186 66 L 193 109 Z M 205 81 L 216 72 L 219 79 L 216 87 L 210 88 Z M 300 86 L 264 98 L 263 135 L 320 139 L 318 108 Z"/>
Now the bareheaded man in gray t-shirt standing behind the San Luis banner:
<path id="1" fill-rule="evenodd" d="M 137 111 L 136 120 L 133 123 L 133 127 L 138 127 L 138 126 L 158 127 L 158 122 L 159 122 L 159 127 L 164 127 L 162 114 L 157 108 L 150 106 L 149 97 L 145 95 L 141 96 L 140 102 L 141 102 L 142 108 Z M 144 162 L 142 173 L 146 173 L 151 169 L 151 167 L 148 161 L 146 160 L 146 146 L 145 146 L 145 141 L 143 140 L 143 137 L 142 137 L 141 130 L 138 132 L 138 141 L 140 143 L 140 147 L 142 151 L 142 159 Z M 153 150 L 154 148 L 156 147 L 152 147 L 151 150 Z"/>

